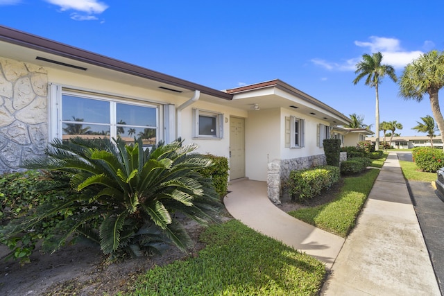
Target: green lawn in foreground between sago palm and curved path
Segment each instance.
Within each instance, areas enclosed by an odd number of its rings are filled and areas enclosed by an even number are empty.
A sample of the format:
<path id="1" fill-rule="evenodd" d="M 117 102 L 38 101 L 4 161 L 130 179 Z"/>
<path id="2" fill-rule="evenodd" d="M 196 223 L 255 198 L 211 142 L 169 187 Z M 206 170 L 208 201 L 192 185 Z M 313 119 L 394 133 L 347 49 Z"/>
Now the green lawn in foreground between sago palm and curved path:
<path id="1" fill-rule="evenodd" d="M 317 295 L 325 265 L 237 220 L 207 229 L 196 258 L 148 270 L 129 295 Z"/>

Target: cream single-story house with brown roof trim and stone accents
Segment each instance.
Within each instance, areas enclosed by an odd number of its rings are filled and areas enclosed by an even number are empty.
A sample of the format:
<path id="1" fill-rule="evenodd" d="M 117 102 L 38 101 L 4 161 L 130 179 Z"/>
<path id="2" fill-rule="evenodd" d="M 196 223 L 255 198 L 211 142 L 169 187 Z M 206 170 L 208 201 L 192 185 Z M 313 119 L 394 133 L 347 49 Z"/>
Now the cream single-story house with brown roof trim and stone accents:
<path id="1" fill-rule="evenodd" d="M 228 157 L 230 180 L 267 181 L 325 163 L 323 139 L 347 116 L 281 80 L 219 91 L 0 26 L 0 173 L 52 139 L 181 137 Z"/>

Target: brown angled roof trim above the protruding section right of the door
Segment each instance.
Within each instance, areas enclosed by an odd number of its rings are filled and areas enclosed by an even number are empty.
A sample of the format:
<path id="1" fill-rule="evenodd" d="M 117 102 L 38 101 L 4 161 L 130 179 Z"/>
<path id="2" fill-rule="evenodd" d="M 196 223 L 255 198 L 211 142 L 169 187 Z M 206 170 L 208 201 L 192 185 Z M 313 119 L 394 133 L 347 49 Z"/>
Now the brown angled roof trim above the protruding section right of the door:
<path id="1" fill-rule="evenodd" d="M 304 100 L 304 101 L 307 101 L 313 105 L 321 107 L 324 110 L 332 112 L 333 114 L 335 114 L 336 116 L 338 116 L 339 118 L 341 118 L 345 122 L 350 122 L 350 119 L 347 116 L 345 116 L 344 114 L 342 114 L 341 112 L 339 112 L 338 110 L 333 109 L 329 105 L 322 103 L 318 99 L 310 96 L 309 94 L 305 94 L 305 92 L 302 92 L 299 89 L 297 89 L 296 87 L 292 87 L 288 83 L 285 83 L 279 79 L 255 83 L 254 85 L 246 85 L 243 87 L 236 87 L 234 89 L 227 89 L 226 92 L 228 94 L 238 94 L 240 92 L 248 92 L 250 90 L 262 89 L 262 88 L 266 88 L 266 87 L 276 87 L 278 89 L 282 89 L 285 92 L 288 92 L 289 94 L 293 94 L 294 96 L 298 96 L 298 98 L 302 98 L 302 100 Z"/>

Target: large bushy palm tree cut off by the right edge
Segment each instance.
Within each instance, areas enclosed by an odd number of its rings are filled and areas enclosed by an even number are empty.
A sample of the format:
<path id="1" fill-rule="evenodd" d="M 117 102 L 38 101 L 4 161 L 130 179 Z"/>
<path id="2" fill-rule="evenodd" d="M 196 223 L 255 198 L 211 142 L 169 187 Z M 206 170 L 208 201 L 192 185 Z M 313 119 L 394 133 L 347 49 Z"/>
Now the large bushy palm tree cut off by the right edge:
<path id="1" fill-rule="evenodd" d="M 400 96 L 404 99 L 422 101 L 429 94 L 434 120 L 444 142 L 444 119 L 439 108 L 438 92 L 444 87 L 444 52 L 429 51 L 404 68 L 400 77 Z"/>

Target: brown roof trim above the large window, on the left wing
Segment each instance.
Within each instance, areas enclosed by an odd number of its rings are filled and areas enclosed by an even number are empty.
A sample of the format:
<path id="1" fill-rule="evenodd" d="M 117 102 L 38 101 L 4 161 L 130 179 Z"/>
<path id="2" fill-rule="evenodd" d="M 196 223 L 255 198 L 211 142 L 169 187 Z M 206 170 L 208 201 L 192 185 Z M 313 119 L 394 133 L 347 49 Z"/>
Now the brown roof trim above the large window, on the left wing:
<path id="1" fill-rule="evenodd" d="M 127 62 L 108 58 L 105 55 L 99 55 L 97 53 L 92 53 L 91 51 L 78 49 L 74 46 L 62 44 L 60 42 L 8 28 L 6 26 L 0 26 L 0 41 L 17 44 L 19 46 L 43 51 L 45 53 L 59 55 L 64 58 L 78 60 L 80 62 L 86 62 L 87 64 L 94 64 L 99 67 L 127 73 L 133 76 L 139 76 L 162 83 L 167 83 L 168 85 L 173 85 L 176 87 L 182 87 L 190 90 L 199 90 L 203 94 L 216 96 L 218 98 L 224 98 L 225 100 L 232 99 L 232 95 L 221 92 L 217 89 L 198 85 L 194 82 L 189 82 L 187 80 L 182 80 L 180 78 L 152 71 L 143 67 L 136 66 L 135 64 L 129 64 Z"/>

